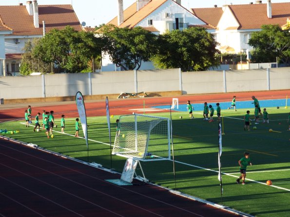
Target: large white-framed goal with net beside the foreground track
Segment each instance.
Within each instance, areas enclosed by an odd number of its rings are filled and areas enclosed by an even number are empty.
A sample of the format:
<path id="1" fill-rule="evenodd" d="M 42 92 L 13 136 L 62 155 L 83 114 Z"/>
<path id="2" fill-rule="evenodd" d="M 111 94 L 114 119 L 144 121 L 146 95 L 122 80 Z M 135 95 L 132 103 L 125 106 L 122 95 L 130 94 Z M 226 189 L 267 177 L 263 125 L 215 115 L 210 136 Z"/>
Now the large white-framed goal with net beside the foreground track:
<path id="1" fill-rule="evenodd" d="M 119 118 L 112 154 L 138 161 L 170 159 L 170 119 L 134 114 Z"/>

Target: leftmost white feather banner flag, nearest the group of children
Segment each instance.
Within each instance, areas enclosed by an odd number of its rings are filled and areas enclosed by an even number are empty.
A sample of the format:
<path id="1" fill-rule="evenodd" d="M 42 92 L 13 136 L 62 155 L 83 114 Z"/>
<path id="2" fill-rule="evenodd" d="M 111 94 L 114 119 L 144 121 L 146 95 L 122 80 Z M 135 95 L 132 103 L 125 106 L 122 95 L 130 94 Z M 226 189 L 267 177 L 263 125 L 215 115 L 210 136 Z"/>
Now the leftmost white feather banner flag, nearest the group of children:
<path id="1" fill-rule="evenodd" d="M 83 130 L 83 134 L 86 140 L 87 145 L 87 161 L 89 162 L 89 143 L 88 143 L 88 125 L 87 125 L 87 115 L 86 115 L 86 108 L 85 102 L 83 100 L 83 95 L 80 91 L 77 91 L 76 94 L 76 104 L 77 104 L 77 111 L 81 122 L 81 127 Z"/>

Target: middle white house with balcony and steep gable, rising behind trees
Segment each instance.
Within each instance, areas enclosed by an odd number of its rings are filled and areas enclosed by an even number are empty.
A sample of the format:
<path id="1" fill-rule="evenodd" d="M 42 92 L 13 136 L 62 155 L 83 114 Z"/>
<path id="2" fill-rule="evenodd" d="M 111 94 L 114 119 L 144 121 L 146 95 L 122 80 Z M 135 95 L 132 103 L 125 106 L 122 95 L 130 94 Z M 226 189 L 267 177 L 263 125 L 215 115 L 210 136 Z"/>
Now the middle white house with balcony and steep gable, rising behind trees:
<path id="1" fill-rule="evenodd" d="M 123 0 L 118 0 L 118 16 L 107 24 L 117 27 L 140 26 L 154 34 L 163 34 L 174 29 L 183 30 L 192 25 L 206 25 L 181 5 L 181 0 L 136 0 L 123 10 Z M 154 69 L 151 62 L 143 62 L 140 70 Z M 108 55 L 102 56 L 102 71 L 118 70 Z"/>

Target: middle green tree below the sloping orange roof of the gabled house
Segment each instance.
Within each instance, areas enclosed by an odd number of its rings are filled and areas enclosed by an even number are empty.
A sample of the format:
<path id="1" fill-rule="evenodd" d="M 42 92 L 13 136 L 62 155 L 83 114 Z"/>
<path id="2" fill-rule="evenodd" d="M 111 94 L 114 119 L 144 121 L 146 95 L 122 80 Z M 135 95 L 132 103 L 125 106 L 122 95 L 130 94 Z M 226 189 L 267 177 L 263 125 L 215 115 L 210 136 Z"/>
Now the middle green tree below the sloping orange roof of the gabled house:
<path id="1" fill-rule="evenodd" d="M 155 51 L 156 36 L 141 27 L 129 29 L 103 26 L 100 36 L 103 52 L 110 56 L 114 64 L 125 70 L 138 70 L 142 61 L 149 61 Z"/>

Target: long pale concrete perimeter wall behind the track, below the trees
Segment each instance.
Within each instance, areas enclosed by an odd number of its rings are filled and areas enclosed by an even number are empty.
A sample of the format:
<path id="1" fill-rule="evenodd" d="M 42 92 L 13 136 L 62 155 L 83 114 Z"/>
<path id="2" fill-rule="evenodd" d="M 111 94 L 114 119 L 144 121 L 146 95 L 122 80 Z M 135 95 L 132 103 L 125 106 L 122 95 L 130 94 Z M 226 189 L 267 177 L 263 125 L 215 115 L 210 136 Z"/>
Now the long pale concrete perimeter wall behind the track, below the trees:
<path id="1" fill-rule="evenodd" d="M 290 89 L 290 67 L 258 70 L 181 72 L 180 69 L 42 74 L 0 77 L 6 103 L 116 98 L 121 92 L 157 96 Z M 27 101 L 28 102 L 28 101 Z"/>

